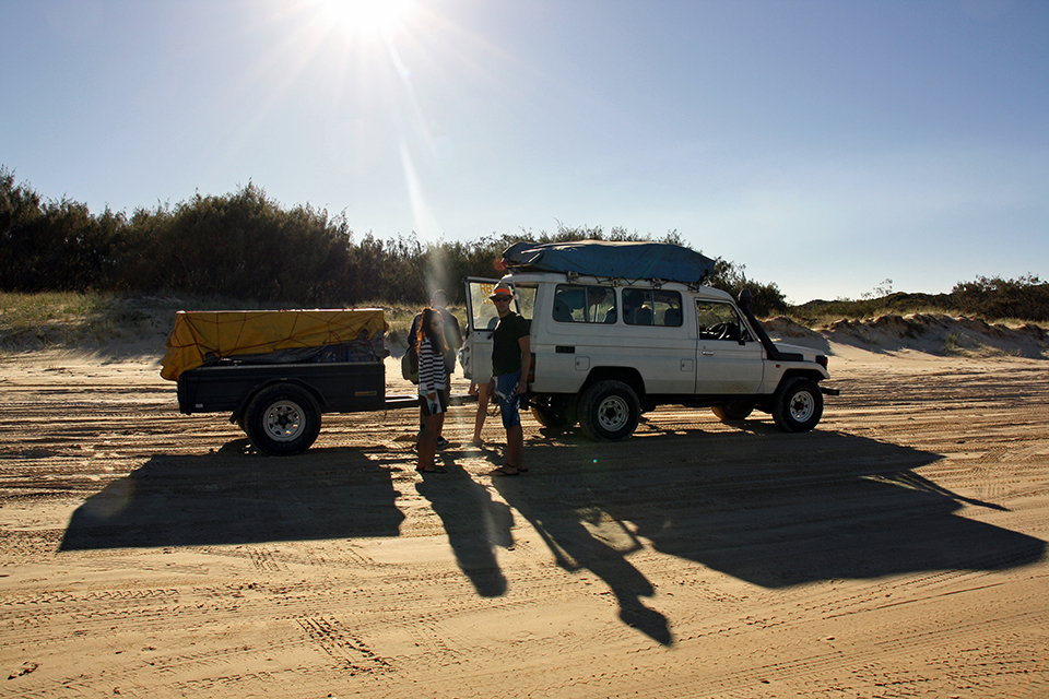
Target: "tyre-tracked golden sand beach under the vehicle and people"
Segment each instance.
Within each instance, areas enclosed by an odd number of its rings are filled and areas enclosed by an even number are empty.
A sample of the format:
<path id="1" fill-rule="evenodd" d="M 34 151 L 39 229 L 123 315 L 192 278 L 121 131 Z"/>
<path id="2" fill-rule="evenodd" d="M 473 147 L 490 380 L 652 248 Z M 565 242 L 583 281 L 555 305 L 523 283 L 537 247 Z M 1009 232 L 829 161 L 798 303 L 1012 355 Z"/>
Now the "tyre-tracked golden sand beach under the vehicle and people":
<path id="1" fill-rule="evenodd" d="M 178 413 L 163 337 L 7 355 L 0 695 L 1047 697 L 1044 334 L 970 325 L 773 322 L 832 354 L 816 430 L 526 414 L 512 478 L 472 405 L 421 477 L 412 410 L 267 458 Z"/>

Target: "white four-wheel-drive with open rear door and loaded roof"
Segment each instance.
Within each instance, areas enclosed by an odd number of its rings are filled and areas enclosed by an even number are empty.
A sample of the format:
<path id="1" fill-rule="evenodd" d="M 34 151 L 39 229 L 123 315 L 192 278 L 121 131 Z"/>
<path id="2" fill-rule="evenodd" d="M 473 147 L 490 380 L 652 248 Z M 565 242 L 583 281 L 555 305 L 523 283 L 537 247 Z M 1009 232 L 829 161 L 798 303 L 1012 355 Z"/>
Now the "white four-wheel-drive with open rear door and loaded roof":
<path id="1" fill-rule="evenodd" d="M 566 247 L 568 261 L 561 257 Z M 653 266 L 646 259 L 639 268 L 630 262 L 650 258 L 652 248 L 669 261 Z M 608 253 L 620 262 L 589 264 Z M 573 261 L 577 258 L 585 263 Z M 668 281 L 697 274 L 687 265 L 681 271 L 683 258 L 696 258 L 703 276 L 712 269 L 707 258 L 664 244 L 511 247 L 502 280 L 467 280 L 467 377 L 490 378 L 497 315 L 488 296 L 503 282 L 515 289 L 517 311 L 531 321 L 527 398 L 547 427 L 578 422 L 591 439 L 623 439 L 643 412 L 664 403 L 710 407 L 726 422 L 743 419 L 756 407 L 783 430 L 815 427 L 823 394 L 838 394 L 820 386 L 830 377 L 826 355 L 774 343 L 747 307 L 749 292 L 736 304 L 698 281 Z"/>

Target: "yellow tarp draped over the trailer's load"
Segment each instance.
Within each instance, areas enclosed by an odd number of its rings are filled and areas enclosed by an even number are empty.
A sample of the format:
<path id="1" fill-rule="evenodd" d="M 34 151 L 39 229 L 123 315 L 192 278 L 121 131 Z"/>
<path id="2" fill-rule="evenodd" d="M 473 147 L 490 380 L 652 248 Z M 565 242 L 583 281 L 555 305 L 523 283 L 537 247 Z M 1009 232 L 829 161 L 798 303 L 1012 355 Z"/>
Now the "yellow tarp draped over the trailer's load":
<path id="1" fill-rule="evenodd" d="M 389 330 L 382 309 L 220 310 L 175 315 L 161 376 L 177 381 L 212 355 L 224 358 L 294 347 L 319 347 L 370 340 Z M 362 335 L 362 331 L 364 334 Z"/>

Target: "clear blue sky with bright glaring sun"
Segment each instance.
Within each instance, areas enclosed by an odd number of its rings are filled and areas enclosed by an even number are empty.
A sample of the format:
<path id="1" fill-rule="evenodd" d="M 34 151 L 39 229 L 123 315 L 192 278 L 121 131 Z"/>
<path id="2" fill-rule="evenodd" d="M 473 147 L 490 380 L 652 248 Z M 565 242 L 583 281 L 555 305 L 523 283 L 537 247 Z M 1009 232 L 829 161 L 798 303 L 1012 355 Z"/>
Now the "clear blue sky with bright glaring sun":
<path id="1" fill-rule="evenodd" d="M 676 232 L 794 304 L 1049 276 L 1045 0 L 0 0 L 45 199 Z"/>

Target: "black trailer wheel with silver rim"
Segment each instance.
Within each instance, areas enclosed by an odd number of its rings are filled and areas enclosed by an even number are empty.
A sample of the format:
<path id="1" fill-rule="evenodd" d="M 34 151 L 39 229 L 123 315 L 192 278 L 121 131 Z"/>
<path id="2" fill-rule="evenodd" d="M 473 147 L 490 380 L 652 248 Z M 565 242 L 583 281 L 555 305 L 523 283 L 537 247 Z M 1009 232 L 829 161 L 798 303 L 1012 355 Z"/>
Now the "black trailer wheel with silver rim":
<path id="1" fill-rule="evenodd" d="M 244 430 L 259 451 L 287 457 L 309 449 L 320 434 L 320 408 L 302 387 L 268 386 L 244 412 Z"/>

